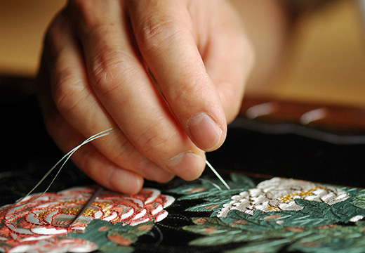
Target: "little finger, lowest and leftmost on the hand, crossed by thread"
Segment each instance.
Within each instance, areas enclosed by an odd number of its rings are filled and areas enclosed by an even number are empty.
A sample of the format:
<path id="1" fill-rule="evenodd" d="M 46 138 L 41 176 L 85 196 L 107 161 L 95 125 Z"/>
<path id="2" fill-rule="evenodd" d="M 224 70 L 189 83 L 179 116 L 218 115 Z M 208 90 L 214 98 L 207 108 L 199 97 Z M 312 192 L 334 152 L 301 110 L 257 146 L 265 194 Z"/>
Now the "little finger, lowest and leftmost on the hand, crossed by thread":
<path id="1" fill-rule="evenodd" d="M 85 140 L 84 136 L 60 115 L 50 96 L 45 93 L 41 96 L 46 127 L 55 143 L 65 152 L 80 145 Z M 71 158 L 91 179 L 106 188 L 127 194 L 138 193 L 142 188 L 143 179 L 140 174 L 117 166 L 91 143 L 79 148 Z"/>

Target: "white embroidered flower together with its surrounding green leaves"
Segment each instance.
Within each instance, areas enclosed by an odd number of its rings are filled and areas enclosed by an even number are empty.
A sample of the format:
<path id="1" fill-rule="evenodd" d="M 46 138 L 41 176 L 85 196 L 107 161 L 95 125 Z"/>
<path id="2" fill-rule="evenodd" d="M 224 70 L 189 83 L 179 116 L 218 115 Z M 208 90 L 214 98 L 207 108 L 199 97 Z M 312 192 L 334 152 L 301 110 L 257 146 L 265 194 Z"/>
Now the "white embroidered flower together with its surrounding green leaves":
<path id="1" fill-rule="evenodd" d="M 194 188 L 199 184 L 204 183 L 195 183 Z M 365 190 L 279 178 L 251 189 L 244 186 L 220 192 L 205 187 L 199 193 L 180 187 L 184 196 L 178 201 L 204 200 L 187 211 L 211 211 L 193 217 L 194 225 L 183 228 L 201 235 L 189 242 L 190 247 L 222 252 L 365 252 Z M 232 194 L 234 190 L 240 193 Z M 221 196 L 230 201 L 217 200 Z M 242 205 L 246 200 L 249 205 Z"/>

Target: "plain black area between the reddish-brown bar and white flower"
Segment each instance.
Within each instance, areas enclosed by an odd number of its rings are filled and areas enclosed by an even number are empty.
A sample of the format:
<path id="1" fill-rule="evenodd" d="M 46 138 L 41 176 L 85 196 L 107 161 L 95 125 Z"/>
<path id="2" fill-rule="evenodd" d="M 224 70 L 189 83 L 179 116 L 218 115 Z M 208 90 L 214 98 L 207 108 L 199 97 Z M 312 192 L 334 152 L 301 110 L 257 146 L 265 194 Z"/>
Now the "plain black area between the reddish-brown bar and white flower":
<path id="1" fill-rule="evenodd" d="M 207 157 L 227 171 L 365 187 L 365 141 L 359 133 L 341 136 L 296 124 L 239 118 L 222 148 Z"/>

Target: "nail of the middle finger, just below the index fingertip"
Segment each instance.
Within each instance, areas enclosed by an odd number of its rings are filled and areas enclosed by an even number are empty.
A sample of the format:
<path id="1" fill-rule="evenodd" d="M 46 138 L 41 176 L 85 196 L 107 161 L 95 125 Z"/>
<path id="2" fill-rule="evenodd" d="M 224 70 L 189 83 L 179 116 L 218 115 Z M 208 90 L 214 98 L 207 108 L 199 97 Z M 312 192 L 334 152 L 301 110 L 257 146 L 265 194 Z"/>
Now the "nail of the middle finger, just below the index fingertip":
<path id="1" fill-rule="evenodd" d="M 166 167 L 185 180 L 197 179 L 204 170 L 205 157 L 187 152 L 180 153 L 166 162 Z"/>

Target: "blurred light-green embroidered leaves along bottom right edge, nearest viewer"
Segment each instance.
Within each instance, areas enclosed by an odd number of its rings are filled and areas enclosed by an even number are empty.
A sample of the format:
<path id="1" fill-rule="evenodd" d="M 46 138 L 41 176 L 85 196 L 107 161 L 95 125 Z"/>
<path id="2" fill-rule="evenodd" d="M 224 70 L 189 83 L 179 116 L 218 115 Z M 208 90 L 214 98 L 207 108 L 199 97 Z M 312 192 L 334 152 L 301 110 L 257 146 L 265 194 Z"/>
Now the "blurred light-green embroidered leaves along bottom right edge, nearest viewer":
<path id="1" fill-rule="evenodd" d="M 284 227 L 271 231 L 244 230 L 249 222 L 232 223 L 229 226 L 218 218 L 193 219 L 196 225 L 184 229 L 206 235 L 190 242 L 190 245 L 208 246 L 245 242 L 239 248 L 227 252 L 279 252 L 283 247 L 300 252 L 364 252 L 365 221 L 354 226 L 332 224 L 321 227 Z M 238 225 L 238 226 L 237 226 Z M 238 245 L 237 245 L 238 246 Z"/>

